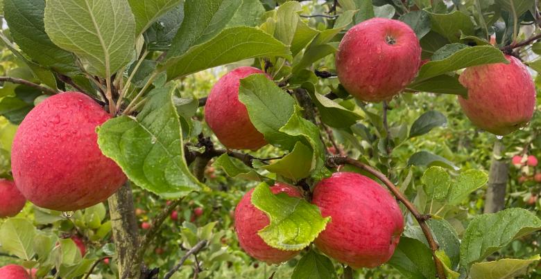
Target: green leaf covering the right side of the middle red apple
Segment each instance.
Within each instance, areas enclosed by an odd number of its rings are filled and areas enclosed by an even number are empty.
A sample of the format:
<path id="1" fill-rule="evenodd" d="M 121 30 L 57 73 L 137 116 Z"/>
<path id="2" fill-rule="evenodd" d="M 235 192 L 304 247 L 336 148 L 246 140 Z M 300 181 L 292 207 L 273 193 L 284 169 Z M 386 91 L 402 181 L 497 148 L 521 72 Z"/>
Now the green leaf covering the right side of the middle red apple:
<path id="1" fill-rule="evenodd" d="M 296 141 L 280 132 L 295 113 L 295 100 L 263 74 L 241 80 L 239 100 L 246 105 L 250 121 L 268 143 L 290 150 Z"/>

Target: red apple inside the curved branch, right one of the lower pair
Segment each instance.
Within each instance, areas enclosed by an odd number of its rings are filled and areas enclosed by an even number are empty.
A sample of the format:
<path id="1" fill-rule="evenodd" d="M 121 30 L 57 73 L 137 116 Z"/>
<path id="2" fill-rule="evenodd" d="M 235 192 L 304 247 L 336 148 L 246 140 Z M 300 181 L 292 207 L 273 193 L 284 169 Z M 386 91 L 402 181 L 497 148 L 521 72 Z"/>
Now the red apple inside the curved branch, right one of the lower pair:
<path id="1" fill-rule="evenodd" d="M 354 172 L 336 172 L 314 189 L 312 203 L 331 221 L 315 244 L 354 269 L 378 267 L 395 251 L 404 231 L 398 204 L 378 183 Z"/>

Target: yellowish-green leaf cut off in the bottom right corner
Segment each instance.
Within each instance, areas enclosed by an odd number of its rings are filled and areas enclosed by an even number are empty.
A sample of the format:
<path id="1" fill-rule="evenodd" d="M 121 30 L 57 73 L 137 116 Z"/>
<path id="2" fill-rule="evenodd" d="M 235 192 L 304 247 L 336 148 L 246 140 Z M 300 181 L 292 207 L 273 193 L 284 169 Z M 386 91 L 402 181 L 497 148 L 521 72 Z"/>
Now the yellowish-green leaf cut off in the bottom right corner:
<path id="1" fill-rule="evenodd" d="M 470 277 L 472 279 L 517 278 L 526 275 L 528 267 L 539 260 L 539 255 L 535 255 L 529 260 L 501 259 L 492 262 L 477 262 L 472 265 Z"/>

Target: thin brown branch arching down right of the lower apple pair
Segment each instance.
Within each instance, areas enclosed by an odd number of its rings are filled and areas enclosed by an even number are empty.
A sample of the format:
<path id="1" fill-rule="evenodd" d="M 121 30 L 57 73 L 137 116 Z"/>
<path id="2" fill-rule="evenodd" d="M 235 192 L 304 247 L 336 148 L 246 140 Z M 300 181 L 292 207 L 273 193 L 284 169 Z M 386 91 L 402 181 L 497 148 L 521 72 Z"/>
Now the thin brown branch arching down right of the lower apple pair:
<path id="1" fill-rule="evenodd" d="M 369 165 L 366 165 L 364 163 L 361 163 L 361 162 L 359 162 L 357 160 L 354 160 L 354 159 L 351 159 L 349 157 L 343 157 L 343 156 L 329 157 L 329 158 L 327 158 L 327 161 L 325 163 L 327 163 L 327 165 L 329 167 L 332 167 L 332 168 L 336 167 L 337 165 L 345 165 L 345 164 L 353 165 L 353 166 L 355 166 L 357 168 L 360 168 L 361 170 L 366 170 L 367 172 L 370 172 L 370 174 L 374 175 L 375 177 L 377 177 L 377 179 L 379 179 L 381 182 L 383 182 L 385 184 L 385 186 L 387 186 L 387 188 L 390 190 L 390 192 L 392 192 L 393 195 L 395 195 L 395 197 L 398 200 L 402 201 L 402 204 L 404 204 L 404 206 L 406 206 L 406 208 L 408 208 L 409 212 L 411 212 L 413 217 L 415 217 L 415 219 L 417 219 L 417 222 L 419 223 L 419 226 L 421 226 L 422 233 L 424 233 L 424 237 L 427 238 L 430 249 L 432 251 L 432 258 L 434 260 L 434 264 L 436 265 L 436 273 L 438 275 L 438 278 L 440 278 L 440 279 L 447 278 L 445 276 L 445 269 L 443 268 L 443 263 L 440 262 L 440 260 L 436 256 L 436 251 L 438 250 L 438 244 L 436 243 L 436 241 L 432 237 L 432 233 L 430 231 L 430 228 L 426 223 L 426 221 L 431 218 L 430 215 L 419 213 L 417 208 L 415 208 L 415 206 L 413 206 L 413 204 L 411 204 L 411 202 L 406 198 L 406 196 L 404 196 L 404 194 L 402 194 L 402 192 L 400 192 L 400 190 L 398 190 L 398 188 L 395 186 L 395 184 L 393 184 L 393 182 L 391 182 L 384 174 L 382 174 L 381 172 L 379 172 L 375 168 L 370 167 Z"/>

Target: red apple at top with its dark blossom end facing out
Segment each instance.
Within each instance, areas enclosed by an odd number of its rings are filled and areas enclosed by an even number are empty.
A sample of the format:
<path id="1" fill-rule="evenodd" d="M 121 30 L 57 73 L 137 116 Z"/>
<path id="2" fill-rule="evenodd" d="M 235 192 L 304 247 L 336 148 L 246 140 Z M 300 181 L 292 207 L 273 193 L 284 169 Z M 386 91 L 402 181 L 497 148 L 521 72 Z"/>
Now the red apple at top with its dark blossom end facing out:
<path id="1" fill-rule="evenodd" d="M 367 102 L 388 100 L 400 93 L 421 62 L 419 39 L 402 21 L 374 18 L 345 33 L 336 53 L 342 86 Z"/>

